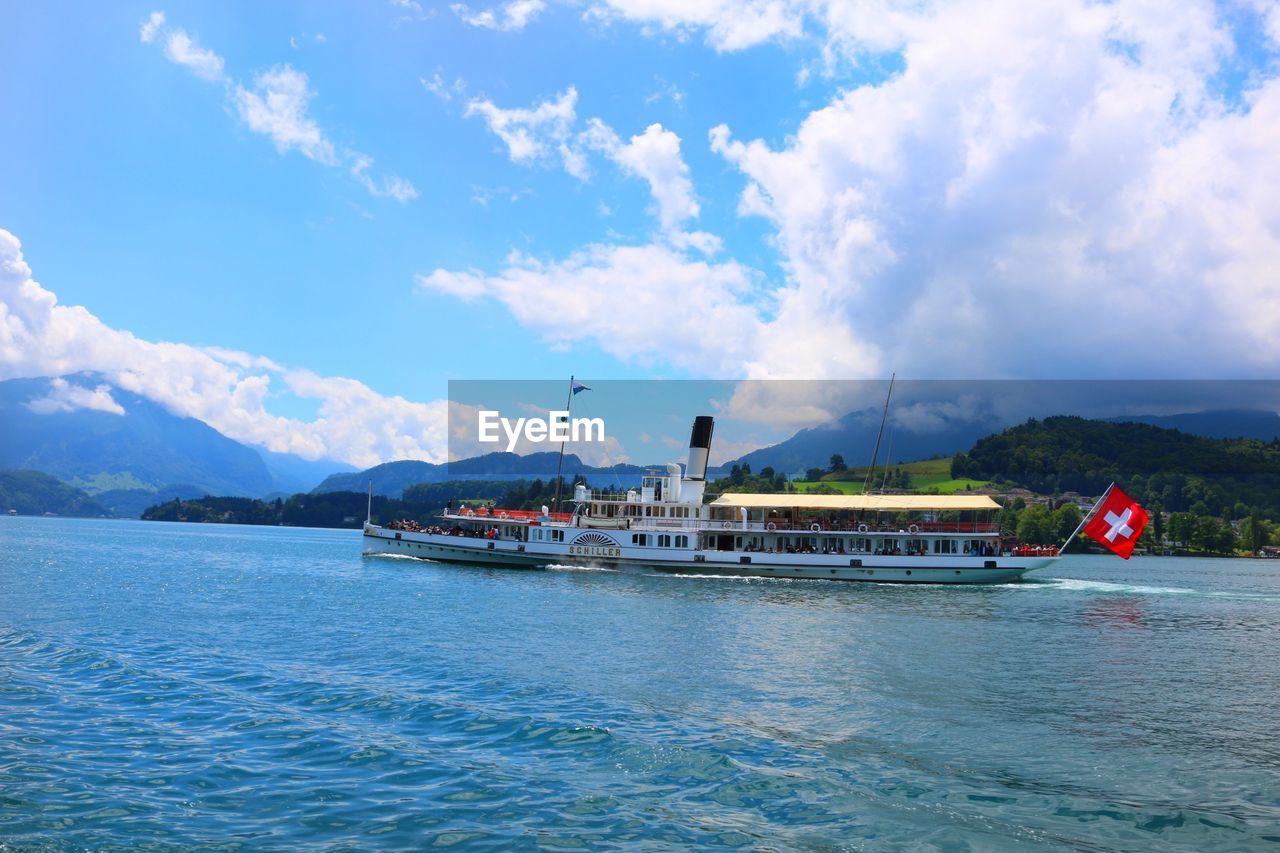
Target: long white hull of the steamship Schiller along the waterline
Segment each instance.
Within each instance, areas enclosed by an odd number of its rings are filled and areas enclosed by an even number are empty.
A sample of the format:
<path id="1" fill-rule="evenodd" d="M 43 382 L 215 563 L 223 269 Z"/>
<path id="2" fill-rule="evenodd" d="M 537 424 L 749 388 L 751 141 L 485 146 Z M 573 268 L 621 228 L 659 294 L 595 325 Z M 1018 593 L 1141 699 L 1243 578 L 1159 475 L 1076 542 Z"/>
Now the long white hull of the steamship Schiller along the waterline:
<path id="1" fill-rule="evenodd" d="M 550 565 L 637 567 L 691 575 L 799 578 L 865 583 L 997 584 L 1019 580 L 1043 569 L 1056 556 L 874 555 L 874 553 L 767 553 L 696 548 L 648 548 L 626 544 L 623 537 L 602 530 L 573 530 L 573 540 L 520 542 L 448 533 L 417 533 L 366 525 L 366 555 L 396 555 L 509 569 Z M 608 539 L 608 542 L 605 542 Z"/>

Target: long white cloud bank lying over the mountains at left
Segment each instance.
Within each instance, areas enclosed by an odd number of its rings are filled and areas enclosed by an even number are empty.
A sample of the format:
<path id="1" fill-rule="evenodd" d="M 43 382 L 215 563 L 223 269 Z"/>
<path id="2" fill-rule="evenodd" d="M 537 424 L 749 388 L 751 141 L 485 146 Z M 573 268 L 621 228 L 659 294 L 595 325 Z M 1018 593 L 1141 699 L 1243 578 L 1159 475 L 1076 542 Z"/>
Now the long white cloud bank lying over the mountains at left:
<path id="1" fill-rule="evenodd" d="M 306 459 L 369 466 L 393 459 L 440 462 L 447 452 L 447 402 L 383 397 L 355 379 L 287 370 L 270 359 L 184 343 L 151 342 L 113 329 L 32 279 L 22 245 L 0 229 L 0 379 L 102 374 L 110 383 L 168 410 L 197 418 L 237 441 Z M 42 406 L 113 400 L 73 387 Z M 274 389 L 320 401 L 315 420 L 268 411 Z"/>

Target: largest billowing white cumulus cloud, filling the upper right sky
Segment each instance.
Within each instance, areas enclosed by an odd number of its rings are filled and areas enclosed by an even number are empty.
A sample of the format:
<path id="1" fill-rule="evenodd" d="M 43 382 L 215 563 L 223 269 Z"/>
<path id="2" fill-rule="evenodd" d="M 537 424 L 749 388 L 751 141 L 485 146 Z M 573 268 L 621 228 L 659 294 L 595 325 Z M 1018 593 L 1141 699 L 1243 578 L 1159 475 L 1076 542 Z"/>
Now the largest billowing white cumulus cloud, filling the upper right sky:
<path id="1" fill-rule="evenodd" d="M 776 228 L 780 316 L 824 318 L 865 364 L 916 375 L 1280 361 L 1265 272 L 1280 164 L 1263 142 L 1280 85 L 1243 109 L 1215 96 L 1231 44 L 1215 6 L 849 9 L 826 20 L 846 44 L 900 45 L 900 74 L 841 92 L 777 149 L 710 134 L 748 179 L 740 213 Z"/>

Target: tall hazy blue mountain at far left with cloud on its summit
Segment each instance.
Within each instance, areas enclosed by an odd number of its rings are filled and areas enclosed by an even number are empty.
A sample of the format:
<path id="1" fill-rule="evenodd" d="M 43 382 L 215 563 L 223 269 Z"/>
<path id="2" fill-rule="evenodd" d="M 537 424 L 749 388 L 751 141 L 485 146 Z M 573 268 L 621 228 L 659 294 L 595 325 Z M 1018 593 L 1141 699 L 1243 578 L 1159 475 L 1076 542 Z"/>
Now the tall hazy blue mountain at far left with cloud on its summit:
<path id="1" fill-rule="evenodd" d="M 110 398 L 100 394 L 99 409 L 59 403 L 102 386 Z M 93 374 L 0 382 L 0 469 L 44 471 L 115 515 L 140 515 L 161 497 L 305 492 L 352 470 L 255 450 Z"/>

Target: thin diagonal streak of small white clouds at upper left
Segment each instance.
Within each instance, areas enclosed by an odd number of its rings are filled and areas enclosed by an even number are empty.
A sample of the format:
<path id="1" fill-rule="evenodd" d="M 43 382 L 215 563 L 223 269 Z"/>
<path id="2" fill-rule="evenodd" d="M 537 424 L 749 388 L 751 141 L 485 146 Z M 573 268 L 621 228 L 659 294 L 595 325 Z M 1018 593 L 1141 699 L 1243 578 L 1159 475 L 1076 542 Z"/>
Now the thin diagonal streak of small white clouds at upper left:
<path id="1" fill-rule="evenodd" d="M 246 87 L 225 73 L 221 56 L 201 47 L 184 29 L 169 27 L 163 12 L 152 12 L 138 37 L 143 44 L 151 44 L 161 36 L 169 61 L 202 79 L 221 83 L 239 120 L 271 140 L 280 154 L 297 151 L 328 167 L 346 167 L 371 196 L 394 199 L 401 204 L 417 197 L 417 190 L 404 178 L 389 175 L 374 179 L 369 174 L 372 158 L 352 149 L 339 149 L 329 140 L 308 113 L 316 93 L 306 73 L 288 64 L 276 65 L 257 74 Z M 324 41 L 324 36 L 317 35 L 316 38 Z"/>

